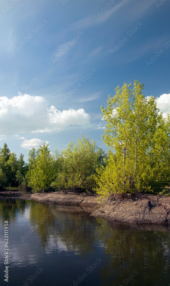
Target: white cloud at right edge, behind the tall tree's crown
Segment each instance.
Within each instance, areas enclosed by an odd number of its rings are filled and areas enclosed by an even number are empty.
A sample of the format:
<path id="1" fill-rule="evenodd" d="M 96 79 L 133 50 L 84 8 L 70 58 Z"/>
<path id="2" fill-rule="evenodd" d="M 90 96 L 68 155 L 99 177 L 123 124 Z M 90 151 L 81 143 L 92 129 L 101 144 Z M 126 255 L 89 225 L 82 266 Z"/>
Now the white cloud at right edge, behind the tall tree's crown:
<path id="1" fill-rule="evenodd" d="M 147 96 L 146 98 L 149 99 L 150 96 Z M 162 94 L 155 99 L 157 102 L 157 108 L 159 108 L 160 111 L 163 112 L 163 116 L 165 117 L 167 113 L 170 112 L 170 93 Z"/>

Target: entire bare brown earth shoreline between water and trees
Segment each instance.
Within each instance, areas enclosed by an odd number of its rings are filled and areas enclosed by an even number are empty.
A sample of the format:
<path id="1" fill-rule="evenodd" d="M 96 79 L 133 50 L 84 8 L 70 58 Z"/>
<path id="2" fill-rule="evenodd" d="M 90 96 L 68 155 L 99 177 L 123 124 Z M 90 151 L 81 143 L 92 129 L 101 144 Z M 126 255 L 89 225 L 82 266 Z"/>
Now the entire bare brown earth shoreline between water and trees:
<path id="1" fill-rule="evenodd" d="M 9 194 L 9 196 L 7 196 Z M 5 196 L 4 196 L 5 195 Z M 101 203 L 100 196 L 92 193 L 75 193 L 70 190 L 53 193 L 29 194 L 24 192 L 0 192 L 0 199 L 32 199 L 43 203 L 72 206 L 90 206 L 90 216 L 103 217 L 131 225 L 170 225 L 170 197 L 145 193 L 113 195 Z"/>

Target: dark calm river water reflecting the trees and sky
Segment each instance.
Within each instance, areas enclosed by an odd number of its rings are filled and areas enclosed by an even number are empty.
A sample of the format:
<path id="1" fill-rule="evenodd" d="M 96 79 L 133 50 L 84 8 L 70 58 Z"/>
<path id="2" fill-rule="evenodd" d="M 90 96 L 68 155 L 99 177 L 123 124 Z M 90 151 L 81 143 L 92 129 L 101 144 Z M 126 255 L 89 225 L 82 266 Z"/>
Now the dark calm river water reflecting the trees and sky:
<path id="1" fill-rule="evenodd" d="M 0 200 L 0 285 L 170 285 L 169 227 L 118 224 L 90 217 L 92 211 Z M 4 281 L 5 266 L 9 282 Z"/>

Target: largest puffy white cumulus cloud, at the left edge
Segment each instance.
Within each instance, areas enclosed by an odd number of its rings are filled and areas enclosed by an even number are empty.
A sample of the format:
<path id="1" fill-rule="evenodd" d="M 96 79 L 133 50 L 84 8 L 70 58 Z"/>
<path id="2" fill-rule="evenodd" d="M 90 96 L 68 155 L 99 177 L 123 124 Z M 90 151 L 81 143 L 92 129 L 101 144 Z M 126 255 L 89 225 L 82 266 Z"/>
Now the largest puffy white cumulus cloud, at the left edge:
<path id="1" fill-rule="evenodd" d="M 90 116 L 85 110 L 60 111 L 41 96 L 19 93 L 12 99 L 0 97 L 0 139 L 21 133 L 56 132 L 69 125 L 89 124 Z"/>

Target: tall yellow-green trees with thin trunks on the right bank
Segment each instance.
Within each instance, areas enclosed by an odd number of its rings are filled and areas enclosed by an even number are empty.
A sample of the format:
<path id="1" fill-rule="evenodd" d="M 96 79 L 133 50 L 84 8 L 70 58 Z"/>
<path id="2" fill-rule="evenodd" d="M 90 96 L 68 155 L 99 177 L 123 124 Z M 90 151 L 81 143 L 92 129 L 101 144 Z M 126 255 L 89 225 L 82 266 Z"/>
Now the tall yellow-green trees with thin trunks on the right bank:
<path id="1" fill-rule="evenodd" d="M 131 86 L 131 84 L 129 84 Z M 107 122 L 103 141 L 110 147 L 106 168 L 94 176 L 102 196 L 132 191 L 160 191 L 169 184 L 170 120 L 163 118 L 156 100 L 143 96 L 143 85 L 124 83 L 108 106 L 101 106 Z M 111 152 L 114 150 L 114 154 Z"/>

